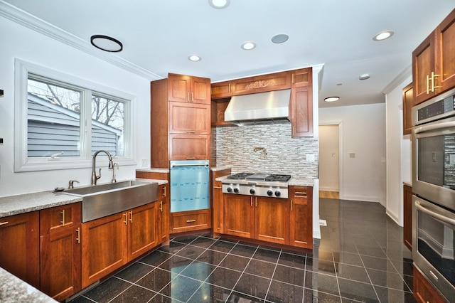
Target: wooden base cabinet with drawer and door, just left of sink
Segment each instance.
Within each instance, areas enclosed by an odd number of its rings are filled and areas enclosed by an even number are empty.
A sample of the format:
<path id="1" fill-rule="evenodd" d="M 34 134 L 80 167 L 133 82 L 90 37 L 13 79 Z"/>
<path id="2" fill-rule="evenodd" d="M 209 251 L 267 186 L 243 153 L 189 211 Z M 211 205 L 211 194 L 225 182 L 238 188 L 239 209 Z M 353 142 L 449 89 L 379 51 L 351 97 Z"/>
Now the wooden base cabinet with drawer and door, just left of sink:
<path id="1" fill-rule="evenodd" d="M 81 289 L 81 203 L 40 211 L 40 290 L 62 301 Z"/>

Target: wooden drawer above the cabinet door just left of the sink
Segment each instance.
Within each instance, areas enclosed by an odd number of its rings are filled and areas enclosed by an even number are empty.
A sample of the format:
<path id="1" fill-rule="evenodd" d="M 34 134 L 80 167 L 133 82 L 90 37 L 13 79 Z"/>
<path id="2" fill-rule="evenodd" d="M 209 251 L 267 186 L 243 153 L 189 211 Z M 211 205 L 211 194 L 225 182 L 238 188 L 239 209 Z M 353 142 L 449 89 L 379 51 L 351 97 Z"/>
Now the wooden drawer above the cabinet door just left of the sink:
<path id="1" fill-rule="evenodd" d="M 40 234 L 53 233 L 81 222 L 81 203 L 56 206 L 40 211 Z"/>

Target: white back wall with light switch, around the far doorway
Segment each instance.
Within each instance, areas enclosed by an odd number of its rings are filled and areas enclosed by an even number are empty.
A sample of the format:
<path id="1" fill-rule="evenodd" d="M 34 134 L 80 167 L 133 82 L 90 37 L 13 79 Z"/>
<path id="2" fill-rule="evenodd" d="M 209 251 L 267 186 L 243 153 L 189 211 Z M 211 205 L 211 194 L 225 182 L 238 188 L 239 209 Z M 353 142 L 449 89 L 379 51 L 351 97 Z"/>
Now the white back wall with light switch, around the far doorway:
<path id="1" fill-rule="evenodd" d="M 385 103 L 319 109 L 319 125 L 340 123 L 340 198 L 385 205 Z"/>

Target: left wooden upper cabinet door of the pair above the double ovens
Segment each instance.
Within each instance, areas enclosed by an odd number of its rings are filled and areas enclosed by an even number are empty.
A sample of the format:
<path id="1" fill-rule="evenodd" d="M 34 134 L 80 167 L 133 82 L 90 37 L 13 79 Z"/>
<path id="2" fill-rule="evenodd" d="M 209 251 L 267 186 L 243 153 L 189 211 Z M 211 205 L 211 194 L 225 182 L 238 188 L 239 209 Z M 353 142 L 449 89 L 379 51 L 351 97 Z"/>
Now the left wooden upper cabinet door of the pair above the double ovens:
<path id="1" fill-rule="evenodd" d="M 431 33 L 412 52 L 412 83 L 414 84 L 414 105 L 436 95 L 431 91 L 432 73 L 435 72 L 434 33 Z"/>

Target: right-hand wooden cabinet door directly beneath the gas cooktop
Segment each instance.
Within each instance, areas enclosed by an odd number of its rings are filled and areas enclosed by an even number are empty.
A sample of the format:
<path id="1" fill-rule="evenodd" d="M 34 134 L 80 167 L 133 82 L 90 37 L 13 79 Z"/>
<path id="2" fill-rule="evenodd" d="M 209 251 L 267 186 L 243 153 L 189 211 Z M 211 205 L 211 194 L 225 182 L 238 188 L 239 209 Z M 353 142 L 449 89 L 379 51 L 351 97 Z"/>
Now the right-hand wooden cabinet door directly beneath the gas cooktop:
<path id="1" fill-rule="evenodd" d="M 287 199 L 265 197 L 253 199 L 255 200 L 255 238 L 272 243 L 289 244 Z"/>

